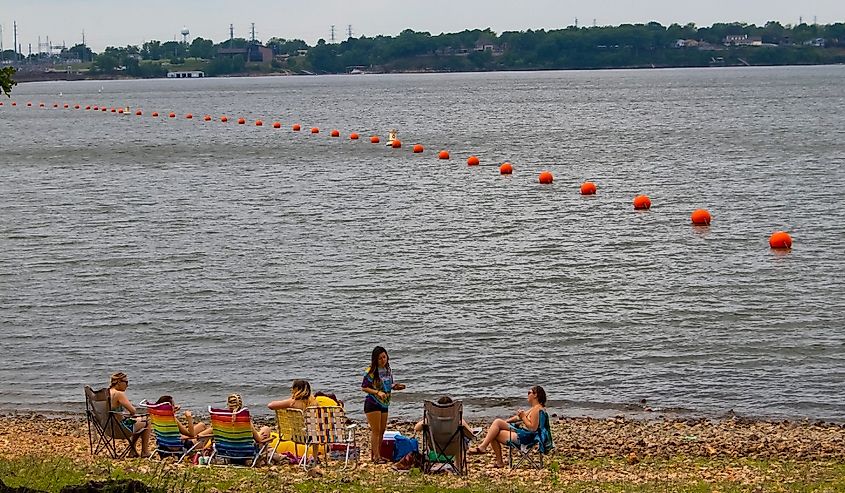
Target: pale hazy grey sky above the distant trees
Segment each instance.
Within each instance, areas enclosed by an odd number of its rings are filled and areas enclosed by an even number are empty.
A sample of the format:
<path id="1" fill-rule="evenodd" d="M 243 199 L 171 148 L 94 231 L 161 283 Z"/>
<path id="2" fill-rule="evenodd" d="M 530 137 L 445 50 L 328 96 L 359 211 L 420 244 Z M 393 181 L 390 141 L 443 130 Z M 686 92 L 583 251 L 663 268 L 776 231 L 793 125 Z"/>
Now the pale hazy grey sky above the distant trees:
<path id="1" fill-rule="evenodd" d="M 4 0 L 0 7 L 3 46 L 12 46 L 12 22 L 18 23 L 18 43 L 27 52 L 38 36 L 68 46 L 82 40 L 101 51 L 108 45 L 140 45 L 146 40 L 173 40 L 183 26 L 190 39 L 222 41 L 234 24 L 236 37 L 248 37 L 255 23 L 261 40 L 277 36 L 314 44 L 329 40 L 336 25 L 337 39 L 346 39 L 347 25 L 355 37 L 396 35 L 403 29 L 431 34 L 490 27 L 495 32 L 566 27 L 617 25 L 657 21 L 764 24 L 777 20 L 797 24 L 799 18 L 820 24 L 845 22 L 845 0 Z"/>

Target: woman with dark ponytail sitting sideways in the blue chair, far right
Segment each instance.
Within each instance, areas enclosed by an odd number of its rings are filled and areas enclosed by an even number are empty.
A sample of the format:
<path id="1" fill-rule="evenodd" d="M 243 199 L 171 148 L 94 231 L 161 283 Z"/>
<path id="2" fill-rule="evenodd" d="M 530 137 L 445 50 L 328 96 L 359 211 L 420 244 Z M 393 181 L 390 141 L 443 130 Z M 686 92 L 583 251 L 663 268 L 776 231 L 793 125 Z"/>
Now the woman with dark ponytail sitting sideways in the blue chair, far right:
<path id="1" fill-rule="evenodd" d="M 540 426 L 540 412 L 545 410 L 546 406 L 546 391 L 543 387 L 539 385 L 531 387 L 528 391 L 528 404 L 531 406 L 528 411 L 520 409 L 516 415 L 507 420 L 493 421 L 481 445 L 470 449 L 469 453 L 484 454 L 487 453 L 489 447 L 493 447 L 493 452 L 496 454 L 494 466 L 504 467 L 502 445 L 519 447 L 533 443 Z"/>

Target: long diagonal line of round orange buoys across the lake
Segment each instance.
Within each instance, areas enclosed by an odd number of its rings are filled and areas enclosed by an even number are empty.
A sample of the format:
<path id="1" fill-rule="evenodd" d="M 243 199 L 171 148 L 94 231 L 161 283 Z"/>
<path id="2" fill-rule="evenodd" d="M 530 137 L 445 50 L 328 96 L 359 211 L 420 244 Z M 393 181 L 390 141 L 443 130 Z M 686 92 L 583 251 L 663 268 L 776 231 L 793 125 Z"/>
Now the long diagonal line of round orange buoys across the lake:
<path id="1" fill-rule="evenodd" d="M 17 104 L 16 101 L 10 102 L 10 106 L 12 106 L 12 107 L 17 107 L 17 105 L 18 104 Z M 55 108 L 55 109 L 58 109 L 59 105 L 60 105 L 59 103 L 53 103 L 52 104 L 53 108 Z M 0 102 L 0 107 L 3 107 L 3 106 L 5 106 L 4 102 Z M 31 101 L 27 101 L 26 106 L 28 108 L 31 108 L 33 106 L 33 103 Z M 43 102 L 40 102 L 40 103 L 38 103 L 38 107 L 46 109 L 46 104 L 43 103 Z M 62 107 L 65 108 L 65 109 L 69 109 L 70 105 L 68 103 L 63 103 Z M 75 104 L 73 106 L 73 108 L 78 110 L 78 109 L 81 109 L 81 106 L 79 104 Z M 129 113 L 128 107 L 126 107 L 126 109 L 124 109 L 124 108 L 114 108 L 114 107 L 108 108 L 106 106 L 99 106 L 99 105 L 93 105 L 93 106 L 92 105 L 86 105 L 85 106 L 85 110 L 90 111 L 92 109 L 94 111 L 101 111 L 101 112 L 109 112 L 110 111 L 111 113 L 117 113 L 117 114 L 121 114 L 121 115 Z M 143 115 L 142 110 L 138 109 L 137 111 L 135 111 L 135 115 L 142 116 Z M 157 118 L 159 116 L 159 113 L 157 111 L 153 111 L 153 112 L 150 113 L 150 115 L 153 118 Z M 176 113 L 170 112 L 168 114 L 168 116 L 170 118 L 176 118 Z M 193 114 L 187 113 L 185 115 L 185 118 L 188 119 L 188 120 L 191 120 L 191 119 L 193 119 Z M 203 117 L 203 120 L 204 121 L 211 121 L 212 117 L 211 117 L 211 115 L 205 115 Z M 222 123 L 226 123 L 226 122 L 229 121 L 229 118 L 226 115 L 222 115 L 220 117 L 220 121 Z M 238 118 L 237 121 L 238 121 L 238 124 L 240 124 L 240 125 L 243 125 L 243 124 L 246 123 L 246 120 L 244 118 Z M 256 127 L 261 127 L 263 125 L 264 125 L 264 122 L 262 120 L 256 120 L 255 121 Z M 279 121 L 274 121 L 272 126 L 273 126 L 273 128 L 278 129 L 278 128 L 281 128 L 282 124 Z M 294 124 L 292 126 L 292 129 L 293 129 L 294 132 L 299 132 L 302 129 L 302 126 L 297 123 L 297 124 Z M 312 127 L 311 133 L 312 134 L 319 134 L 320 133 L 319 127 Z M 330 132 L 330 136 L 331 137 L 340 137 L 340 131 L 337 130 L 337 129 L 334 129 Z M 355 133 L 355 132 L 352 132 L 352 133 L 349 134 L 350 140 L 358 140 L 359 138 L 360 138 L 360 135 Z M 373 136 L 370 137 L 370 142 L 373 143 L 373 144 L 378 144 L 378 143 L 381 142 L 381 138 L 378 135 L 373 135 Z M 395 138 L 395 134 L 391 133 L 391 140 L 389 140 L 388 146 L 390 146 L 394 149 L 400 149 L 400 148 L 402 148 L 402 142 L 399 139 Z M 425 148 L 422 146 L 422 144 L 415 144 L 413 146 L 412 150 L 413 150 L 414 154 L 421 154 L 421 153 L 424 152 Z M 441 160 L 451 159 L 451 155 L 450 155 L 449 151 L 447 151 L 447 150 L 440 151 L 437 154 L 437 157 L 438 157 L 438 159 L 441 159 Z M 476 166 L 479 166 L 481 164 L 481 160 L 479 159 L 478 156 L 475 156 L 475 155 L 469 156 L 467 158 L 466 162 L 467 162 L 467 166 L 470 166 L 470 167 L 476 167 Z M 513 168 L 513 165 L 511 163 L 505 162 L 505 163 L 502 163 L 498 167 L 498 171 L 501 175 L 511 175 L 514 172 L 514 168 Z M 552 175 L 552 173 L 550 171 L 542 171 L 542 172 L 540 172 L 540 174 L 538 176 L 538 181 L 543 185 L 551 185 L 554 182 L 554 175 Z M 595 183 L 593 183 L 591 181 L 586 181 L 586 182 L 581 184 L 579 191 L 580 191 L 580 194 L 584 195 L 584 196 L 596 195 L 597 186 L 596 186 Z M 648 195 L 637 195 L 637 196 L 634 197 L 633 206 L 634 206 L 634 210 L 647 211 L 651 208 L 651 199 L 648 197 Z M 690 221 L 694 226 L 706 227 L 706 226 L 709 226 L 711 224 L 712 216 L 711 216 L 710 212 L 706 209 L 696 209 L 690 214 Z M 772 249 L 776 249 L 776 250 L 790 250 L 792 248 L 792 237 L 789 235 L 789 233 L 787 233 L 785 231 L 776 231 L 776 232 L 772 233 L 772 235 L 769 237 L 769 246 Z"/>

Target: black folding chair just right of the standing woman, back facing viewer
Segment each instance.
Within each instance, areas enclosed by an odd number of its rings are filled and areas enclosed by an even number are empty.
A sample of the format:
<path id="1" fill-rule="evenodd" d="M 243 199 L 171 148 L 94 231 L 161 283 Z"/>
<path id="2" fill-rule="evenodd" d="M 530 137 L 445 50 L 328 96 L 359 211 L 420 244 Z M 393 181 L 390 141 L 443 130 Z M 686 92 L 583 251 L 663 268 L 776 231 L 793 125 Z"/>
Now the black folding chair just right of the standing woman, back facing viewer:
<path id="1" fill-rule="evenodd" d="M 451 467 L 455 473 L 466 475 L 467 432 L 463 426 L 464 405 L 461 401 L 423 405 L 423 472 L 435 467 Z"/>

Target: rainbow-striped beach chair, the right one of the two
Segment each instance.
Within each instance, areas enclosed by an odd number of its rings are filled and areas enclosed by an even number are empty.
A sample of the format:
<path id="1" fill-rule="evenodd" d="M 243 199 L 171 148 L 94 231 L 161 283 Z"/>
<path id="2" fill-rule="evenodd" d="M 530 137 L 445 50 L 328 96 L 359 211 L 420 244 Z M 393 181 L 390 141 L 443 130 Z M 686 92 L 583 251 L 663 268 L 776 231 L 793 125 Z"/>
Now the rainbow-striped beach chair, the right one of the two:
<path id="1" fill-rule="evenodd" d="M 215 409 L 209 406 L 208 414 L 211 416 L 211 430 L 214 437 L 209 464 L 215 458 L 225 459 L 230 464 L 246 463 L 251 459 L 250 467 L 255 467 L 266 445 L 259 445 L 252 437 L 249 409 L 242 408 L 233 413 L 228 409 Z"/>

